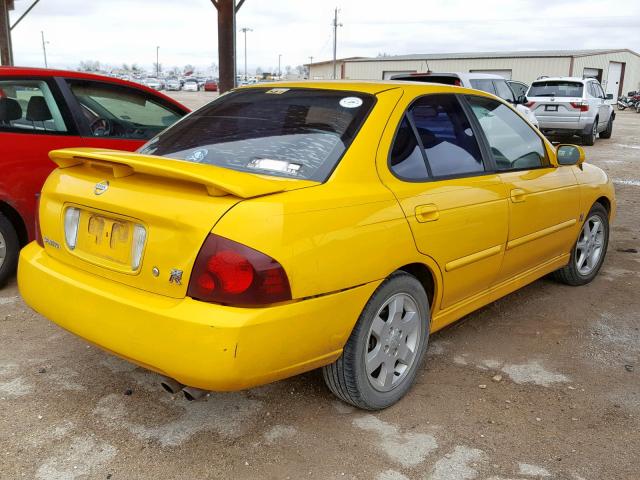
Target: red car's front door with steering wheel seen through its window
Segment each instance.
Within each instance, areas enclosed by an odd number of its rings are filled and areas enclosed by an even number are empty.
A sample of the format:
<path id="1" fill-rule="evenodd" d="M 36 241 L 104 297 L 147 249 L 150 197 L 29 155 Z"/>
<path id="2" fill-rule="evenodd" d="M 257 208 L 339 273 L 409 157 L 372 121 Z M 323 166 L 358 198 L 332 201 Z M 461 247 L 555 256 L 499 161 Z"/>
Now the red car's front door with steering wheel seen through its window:
<path id="1" fill-rule="evenodd" d="M 175 105 L 133 87 L 66 79 L 63 88 L 88 147 L 136 150 L 185 115 Z"/>

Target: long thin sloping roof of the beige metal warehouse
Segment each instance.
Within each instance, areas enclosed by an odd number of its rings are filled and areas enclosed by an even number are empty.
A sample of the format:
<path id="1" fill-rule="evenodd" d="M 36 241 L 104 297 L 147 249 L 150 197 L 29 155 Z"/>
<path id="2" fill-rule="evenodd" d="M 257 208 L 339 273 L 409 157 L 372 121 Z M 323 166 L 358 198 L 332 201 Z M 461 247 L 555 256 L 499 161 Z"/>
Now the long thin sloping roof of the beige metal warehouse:
<path id="1" fill-rule="evenodd" d="M 626 48 L 619 49 L 594 49 L 594 50 L 524 50 L 509 52 L 467 52 L 467 53 L 423 53 L 412 55 L 391 55 L 384 57 L 368 57 L 345 59 L 350 62 L 384 62 L 401 60 L 451 60 L 470 58 L 549 58 L 549 57 L 590 57 L 608 53 L 628 52 L 640 55 Z"/>

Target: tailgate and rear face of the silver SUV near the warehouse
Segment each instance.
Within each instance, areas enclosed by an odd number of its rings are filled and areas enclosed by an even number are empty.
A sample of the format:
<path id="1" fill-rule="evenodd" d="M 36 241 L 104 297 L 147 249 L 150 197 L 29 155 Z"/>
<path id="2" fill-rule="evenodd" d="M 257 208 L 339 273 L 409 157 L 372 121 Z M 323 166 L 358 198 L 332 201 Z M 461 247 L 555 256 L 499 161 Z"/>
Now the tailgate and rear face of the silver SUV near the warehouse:
<path id="1" fill-rule="evenodd" d="M 527 93 L 527 105 L 545 129 L 578 128 L 584 85 L 571 80 L 539 80 Z"/>

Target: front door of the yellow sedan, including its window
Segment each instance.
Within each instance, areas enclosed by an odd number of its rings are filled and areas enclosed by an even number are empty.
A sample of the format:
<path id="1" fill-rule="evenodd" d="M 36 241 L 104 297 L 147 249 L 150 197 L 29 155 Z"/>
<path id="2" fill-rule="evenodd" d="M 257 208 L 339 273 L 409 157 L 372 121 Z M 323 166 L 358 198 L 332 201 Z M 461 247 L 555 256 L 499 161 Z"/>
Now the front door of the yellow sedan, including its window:
<path id="1" fill-rule="evenodd" d="M 570 251 L 579 229 L 579 188 L 572 169 L 552 165 L 545 142 L 512 109 L 486 97 L 467 101 L 509 197 L 500 283 Z"/>

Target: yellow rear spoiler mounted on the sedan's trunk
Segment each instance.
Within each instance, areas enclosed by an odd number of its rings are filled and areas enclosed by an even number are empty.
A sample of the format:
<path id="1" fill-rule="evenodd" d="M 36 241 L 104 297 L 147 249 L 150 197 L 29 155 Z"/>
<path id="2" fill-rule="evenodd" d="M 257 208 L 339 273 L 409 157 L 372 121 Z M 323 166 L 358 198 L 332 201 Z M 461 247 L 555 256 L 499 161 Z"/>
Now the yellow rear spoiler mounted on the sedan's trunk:
<path id="1" fill-rule="evenodd" d="M 269 177 L 214 165 L 185 162 L 153 155 L 97 148 L 65 148 L 49 152 L 59 168 L 87 165 L 110 170 L 114 178 L 140 173 L 197 183 L 212 197 L 252 198 L 317 185 L 310 180 Z"/>

